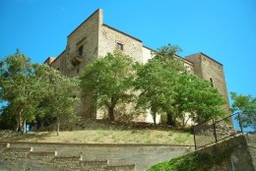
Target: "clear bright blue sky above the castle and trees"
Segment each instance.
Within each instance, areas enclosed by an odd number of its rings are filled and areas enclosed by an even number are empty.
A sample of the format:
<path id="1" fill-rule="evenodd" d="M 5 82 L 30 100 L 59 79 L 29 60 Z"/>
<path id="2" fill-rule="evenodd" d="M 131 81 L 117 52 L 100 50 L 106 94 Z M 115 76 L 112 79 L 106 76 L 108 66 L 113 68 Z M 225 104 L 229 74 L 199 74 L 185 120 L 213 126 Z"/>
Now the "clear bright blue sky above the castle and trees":
<path id="1" fill-rule="evenodd" d="M 19 48 L 42 63 L 96 9 L 103 23 L 157 49 L 177 44 L 224 65 L 227 90 L 256 96 L 255 0 L 0 0 L 0 59 Z"/>

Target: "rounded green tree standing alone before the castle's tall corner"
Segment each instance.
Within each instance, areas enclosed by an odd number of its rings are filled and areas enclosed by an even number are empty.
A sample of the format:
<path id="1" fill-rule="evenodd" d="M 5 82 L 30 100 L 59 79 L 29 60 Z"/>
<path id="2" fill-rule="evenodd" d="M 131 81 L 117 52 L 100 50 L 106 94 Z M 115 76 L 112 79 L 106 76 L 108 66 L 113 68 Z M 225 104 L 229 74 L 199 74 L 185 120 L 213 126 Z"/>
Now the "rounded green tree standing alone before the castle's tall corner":
<path id="1" fill-rule="evenodd" d="M 133 63 L 131 57 L 115 51 L 97 58 L 80 76 L 83 95 L 93 96 L 96 107 L 106 108 L 110 121 L 115 119 L 116 105 L 130 102 L 134 97 L 131 90 Z"/>

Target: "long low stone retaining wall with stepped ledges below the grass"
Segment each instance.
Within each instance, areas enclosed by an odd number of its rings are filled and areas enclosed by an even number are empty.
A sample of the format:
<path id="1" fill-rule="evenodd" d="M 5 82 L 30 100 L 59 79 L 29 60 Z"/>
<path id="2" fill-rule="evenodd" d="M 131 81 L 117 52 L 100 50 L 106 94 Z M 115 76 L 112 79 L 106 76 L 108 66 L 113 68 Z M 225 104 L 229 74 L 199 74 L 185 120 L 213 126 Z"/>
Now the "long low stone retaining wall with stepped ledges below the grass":
<path id="1" fill-rule="evenodd" d="M 31 146 L 32 151 L 31 151 Z M 18 159 L 28 163 L 70 170 L 147 170 L 150 166 L 184 155 L 192 146 L 158 144 L 87 144 L 12 142 L 11 148 L 26 148 L 27 153 L 5 149 L 1 159 Z M 10 148 L 9 147 L 9 148 Z"/>

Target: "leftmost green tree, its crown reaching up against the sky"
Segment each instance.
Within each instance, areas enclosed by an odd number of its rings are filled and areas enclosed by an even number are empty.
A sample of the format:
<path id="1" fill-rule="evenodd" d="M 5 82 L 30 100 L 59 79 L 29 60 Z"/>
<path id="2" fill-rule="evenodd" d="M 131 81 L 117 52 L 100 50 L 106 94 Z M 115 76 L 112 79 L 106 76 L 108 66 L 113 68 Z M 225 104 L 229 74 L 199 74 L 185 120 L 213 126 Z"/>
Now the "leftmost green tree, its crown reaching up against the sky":
<path id="1" fill-rule="evenodd" d="M 25 133 L 26 122 L 35 117 L 34 110 L 47 89 L 45 73 L 35 71 L 30 58 L 19 51 L 0 62 L 0 96 L 17 119 L 18 131 Z"/>

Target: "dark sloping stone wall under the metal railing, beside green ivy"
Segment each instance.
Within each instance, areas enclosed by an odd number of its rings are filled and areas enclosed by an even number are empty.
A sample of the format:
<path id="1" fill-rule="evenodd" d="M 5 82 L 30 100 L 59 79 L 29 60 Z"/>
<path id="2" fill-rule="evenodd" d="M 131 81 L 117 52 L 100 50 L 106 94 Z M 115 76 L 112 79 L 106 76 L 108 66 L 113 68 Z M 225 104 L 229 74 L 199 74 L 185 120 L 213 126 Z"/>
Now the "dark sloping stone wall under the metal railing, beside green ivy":
<path id="1" fill-rule="evenodd" d="M 252 145 L 254 144 L 254 145 Z M 224 155 L 230 152 L 229 159 L 211 170 L 256 171 L 256 135 L 241 135 L 224 142 L 197 150 L 210 155 Z"/>

